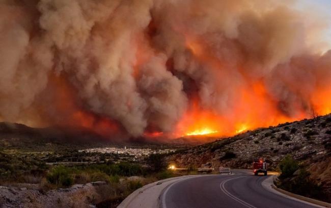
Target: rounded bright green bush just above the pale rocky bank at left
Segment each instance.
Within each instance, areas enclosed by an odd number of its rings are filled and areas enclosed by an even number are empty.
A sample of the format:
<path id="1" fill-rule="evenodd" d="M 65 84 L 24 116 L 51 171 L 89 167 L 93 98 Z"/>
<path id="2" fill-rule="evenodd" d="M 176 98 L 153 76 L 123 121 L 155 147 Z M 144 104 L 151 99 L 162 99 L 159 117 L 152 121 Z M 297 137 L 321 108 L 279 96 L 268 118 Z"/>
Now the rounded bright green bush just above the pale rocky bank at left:
<path id="1" fill-rule="evenodd" d="M 49 183 L 57 186 L 68 187 L 73 184 L 69 168 L 64 166 L 54 167 L 49 174 L 47 174 L 46 179 Z"/>

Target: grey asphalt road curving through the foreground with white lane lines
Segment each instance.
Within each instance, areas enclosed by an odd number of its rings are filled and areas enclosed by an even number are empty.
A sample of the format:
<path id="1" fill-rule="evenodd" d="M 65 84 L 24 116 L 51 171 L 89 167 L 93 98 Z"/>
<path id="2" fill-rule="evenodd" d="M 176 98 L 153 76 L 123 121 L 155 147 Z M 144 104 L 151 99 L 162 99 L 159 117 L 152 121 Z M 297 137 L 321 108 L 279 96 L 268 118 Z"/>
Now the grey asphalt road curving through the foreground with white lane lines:
<path id="1" fill-rule="evenodd" d="M 235 175 L 190 178 L 164 189 L 161 207 L 316 207 L 265 189 L 262 182 L 267 178 L 245 170 L 237 170 Z"/>

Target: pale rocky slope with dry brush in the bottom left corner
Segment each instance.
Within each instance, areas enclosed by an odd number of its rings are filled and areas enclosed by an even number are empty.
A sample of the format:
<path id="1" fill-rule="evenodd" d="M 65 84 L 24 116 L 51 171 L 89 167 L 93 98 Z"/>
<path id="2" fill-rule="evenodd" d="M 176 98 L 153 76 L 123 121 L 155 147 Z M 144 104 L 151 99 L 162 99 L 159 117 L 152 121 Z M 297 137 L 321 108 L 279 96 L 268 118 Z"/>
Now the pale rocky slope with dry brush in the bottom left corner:
<path id="1" fill-rule="evenodd" d="M 132 191 L 128 186 L 135 183 L 145 185 L 149 180 L 141 177 L 128 177 L 119 183 L 104 181 L 76 184 L 68 188 L 43 190 L 38 184 L 16 184 L 0 186 L 0 208 L 7 207 L 116 207 L 117 200 L 123 200 Z M 120 194 L 118 193 L 120 191 Z M 103 205 L 105 204 L 105 205 Z"/>

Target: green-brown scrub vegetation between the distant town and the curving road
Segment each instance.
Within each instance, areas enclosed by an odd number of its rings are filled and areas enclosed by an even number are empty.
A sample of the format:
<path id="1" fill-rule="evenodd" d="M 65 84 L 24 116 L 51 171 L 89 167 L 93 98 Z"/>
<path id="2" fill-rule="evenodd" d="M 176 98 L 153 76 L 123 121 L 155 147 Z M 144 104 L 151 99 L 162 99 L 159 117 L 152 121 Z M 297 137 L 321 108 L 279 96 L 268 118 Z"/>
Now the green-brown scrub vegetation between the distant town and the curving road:
<path id="1" fill-rule="evenodd" d="M 71 157 L 73 155 L 90 156 L 77 152 L 70 152 L 68 155 Z M 68 155 L 62 155 L 61 158 L 66 160 L 66 158 L 70 158 Z M 95 154 L 91 155 L 91 157 L 95 156 Z M 51 158 L 59 159 L 54 156 Z M 50 189 L 67 188 L 73 184 L 103 181 L 105 182 L 104 185 L 96 186 L 96 189 L 100 189 L 100 193 L 104 195 L 104 201 L 97 204 L 97 207 L 114 207 L 127 195 L 145 184 L 182 176 L 189 171 L 194 171 L 193 168 L 187 172 L 166 170 L 167 163 L 164 156 L 160 154 L 151 155 L 143 164 L 127 161 L 116 163 L 102 161 L 66 165 L 57 165 L 57 163 L 46 165 L 44 161 L 39 159 L 38 155 L 30 153 L 7 154 L 0 152 L 0 185 L 21 187 L 19 183 L 35 183 L 38 184 L 39 190 L 44 193 Z M 137 177 L 130 179 L 131 176 Z M 95 201 L 93 198 L 89 200 L 91 203 Z"/>

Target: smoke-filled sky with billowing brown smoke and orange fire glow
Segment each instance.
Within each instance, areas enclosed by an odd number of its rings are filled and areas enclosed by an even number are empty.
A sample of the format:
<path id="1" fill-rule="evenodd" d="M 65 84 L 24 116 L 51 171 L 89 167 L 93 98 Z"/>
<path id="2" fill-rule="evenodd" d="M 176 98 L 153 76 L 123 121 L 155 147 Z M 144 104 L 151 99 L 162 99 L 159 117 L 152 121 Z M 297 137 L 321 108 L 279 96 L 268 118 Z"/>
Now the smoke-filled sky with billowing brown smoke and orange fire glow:
<path id="1" fill-rule="evenodd" d="M 178 137 L 331 113 L 326 8 L 323 0 L 2 0 L 0 120 Z"/>

